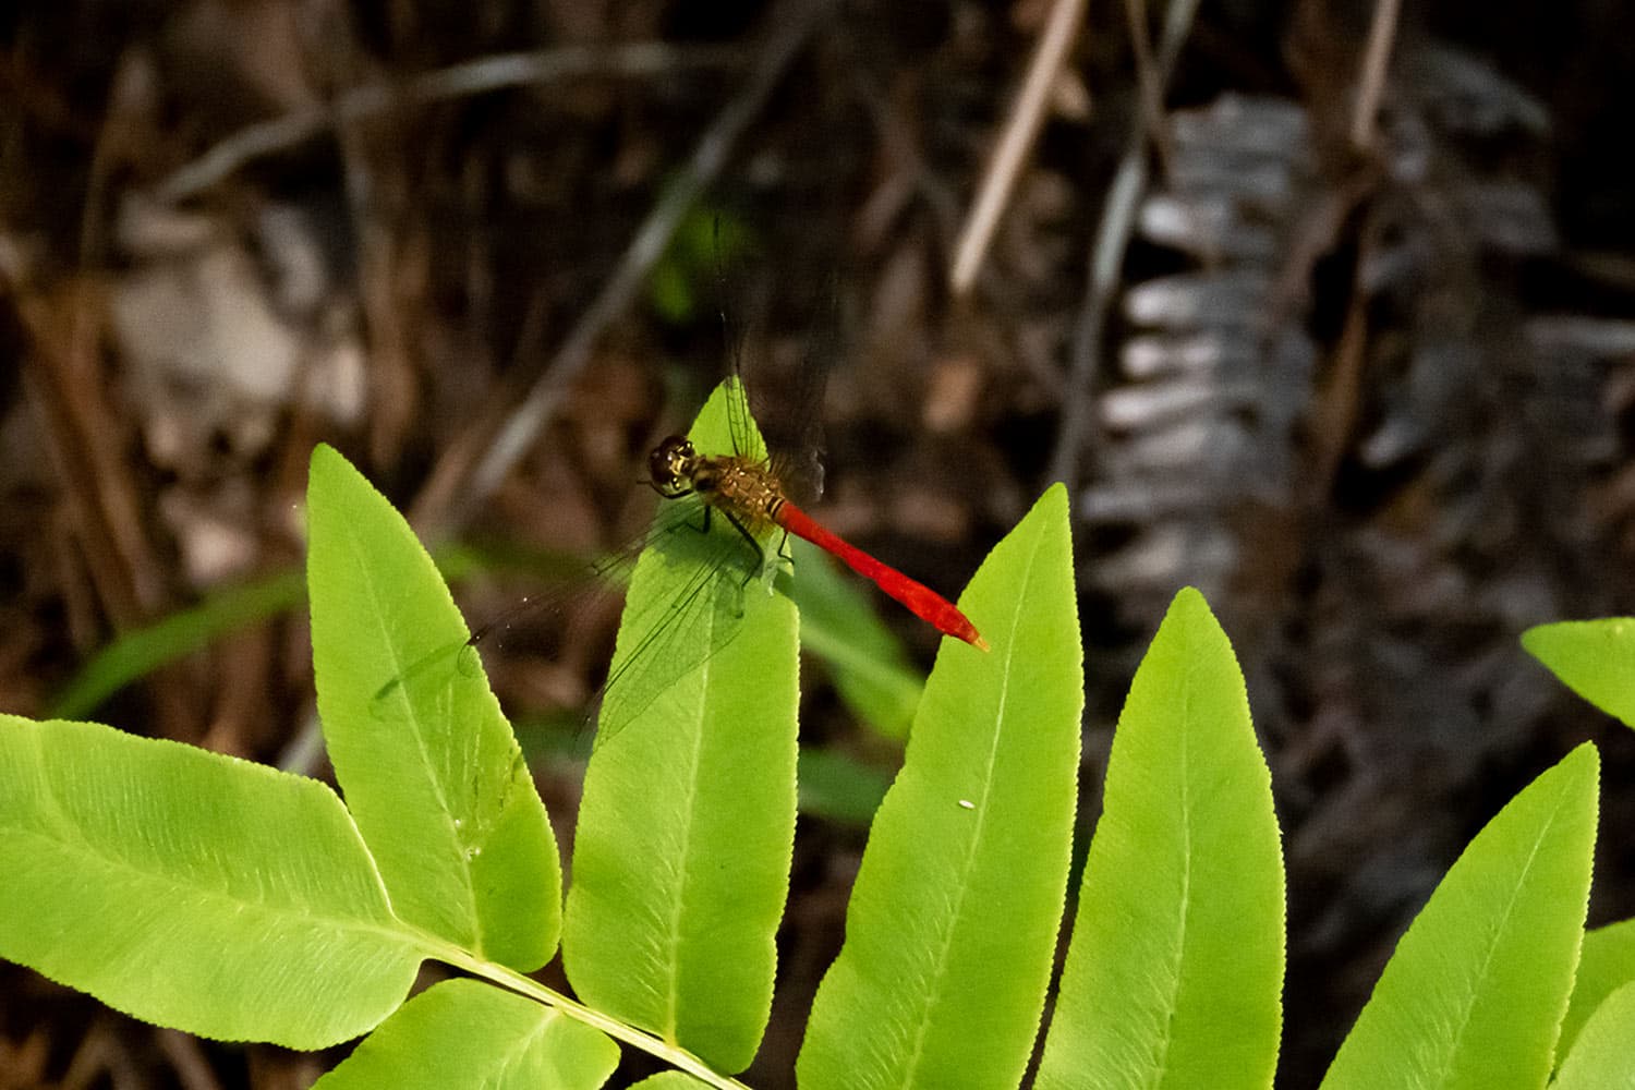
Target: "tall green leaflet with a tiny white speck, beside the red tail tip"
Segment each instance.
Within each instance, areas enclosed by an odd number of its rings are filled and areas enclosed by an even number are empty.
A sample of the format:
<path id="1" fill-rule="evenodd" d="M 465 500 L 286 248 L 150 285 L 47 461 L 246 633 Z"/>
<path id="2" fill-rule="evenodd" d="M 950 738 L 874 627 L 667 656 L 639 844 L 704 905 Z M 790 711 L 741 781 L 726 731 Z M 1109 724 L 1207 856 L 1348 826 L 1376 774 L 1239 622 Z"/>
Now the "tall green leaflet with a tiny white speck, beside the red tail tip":
<path id="1" fill-rule="evenodd" d="M 818 989 L 806 1090 L 1007 1087 L 1027 1067 L 1073 847 L 1082 652 L 1056 485 L 961 598 L 875 817 L 845 946 Z"/>

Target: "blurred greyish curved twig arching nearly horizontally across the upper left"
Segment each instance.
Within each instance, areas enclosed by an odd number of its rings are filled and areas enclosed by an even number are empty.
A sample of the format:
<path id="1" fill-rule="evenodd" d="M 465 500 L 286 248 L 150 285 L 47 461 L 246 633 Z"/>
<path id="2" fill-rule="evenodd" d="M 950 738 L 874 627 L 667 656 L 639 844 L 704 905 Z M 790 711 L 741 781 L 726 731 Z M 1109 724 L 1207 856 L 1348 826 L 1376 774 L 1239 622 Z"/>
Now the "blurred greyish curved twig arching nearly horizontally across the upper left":
<path id="1" fill-rule="evenodd" d="M 646 77 L 675 69 L 726 67 L 741 60 L 742 52 L 737 49 L 677 49 L 667 42 L 564 46 L 541 52 L 481 57 L 425 72 L 404 83 L 356 87 L 330 103 L 296 109 L 239 129 L 160 181 L 154 196 L 162 204 L 191 199 L 257 159 L 296 147 L 325 129 L 407 105 L 466 98 L 507 87 L 549 83 L 572 77 Z"/>

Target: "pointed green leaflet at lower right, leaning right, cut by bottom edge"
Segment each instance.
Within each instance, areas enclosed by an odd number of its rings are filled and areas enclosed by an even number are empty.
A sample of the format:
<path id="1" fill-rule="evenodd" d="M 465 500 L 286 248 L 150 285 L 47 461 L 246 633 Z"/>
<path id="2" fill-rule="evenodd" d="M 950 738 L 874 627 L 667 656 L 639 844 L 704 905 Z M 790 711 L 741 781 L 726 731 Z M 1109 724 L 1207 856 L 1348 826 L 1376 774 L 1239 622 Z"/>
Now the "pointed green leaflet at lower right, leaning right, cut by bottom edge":
<path id="1" fill-rule="evenodd" d="M 1324 1090 L 1542 1087 L 1589 902 L 1588 742 L 1476 833 L 1396 945 Z"/>

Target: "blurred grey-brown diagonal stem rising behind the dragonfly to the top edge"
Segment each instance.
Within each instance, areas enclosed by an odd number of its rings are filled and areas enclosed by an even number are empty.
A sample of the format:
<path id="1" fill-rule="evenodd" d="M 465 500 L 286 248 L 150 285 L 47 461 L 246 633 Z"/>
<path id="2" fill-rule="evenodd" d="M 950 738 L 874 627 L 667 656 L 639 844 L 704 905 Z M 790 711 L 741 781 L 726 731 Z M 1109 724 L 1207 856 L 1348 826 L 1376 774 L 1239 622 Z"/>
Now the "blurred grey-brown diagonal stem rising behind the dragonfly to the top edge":
<path id="1" fill-rule="evenodd" d="M 629 309 L 652 266 L 669 248 L 675 229 L 721 173 L 732 147 L 767 105 L 772 90 L 816 29 L 819 16 L 832 5 L 834 0 L 785 0 L 768 16 L 772 29 L 765 44 L 755 51 L 755 69 L 749 82 L 700 137 L 692 159 L 636 230 L 618 268 L 535 379 L 526 397 L 481 454 L 473 456 L 469 444 L 455 444 L 438 459 L 410 511 L 410 520 L 427 539 L 440 541 L 458 531 L 533 444 L 569 386 L 590 361 L 602 335 Z"/>

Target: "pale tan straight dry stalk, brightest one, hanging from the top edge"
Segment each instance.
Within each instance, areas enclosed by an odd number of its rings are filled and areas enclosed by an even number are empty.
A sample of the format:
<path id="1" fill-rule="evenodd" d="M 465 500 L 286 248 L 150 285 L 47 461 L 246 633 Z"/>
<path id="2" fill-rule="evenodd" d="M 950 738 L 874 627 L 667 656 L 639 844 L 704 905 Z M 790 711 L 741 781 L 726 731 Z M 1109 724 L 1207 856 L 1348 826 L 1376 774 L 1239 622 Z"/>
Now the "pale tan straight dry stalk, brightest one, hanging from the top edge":
<path id="1" fill-rule="evenodd" d="M 1022 93 L 1010 109 L 1010 121 L 994 145 L 992 159 L 988 160 L 988 172 L 978 188 L 971 216 L 965 221 L 960 242 L 955 247 L 953 271 L 948 284 L 955 296 L 963 296 L 976 281 L 976 273 L 988 255 L 988 245 L 994 239 L 999 216 L 1010 201 L 1010 190 L 1015 188 L 1022 165 L 1027 162 L 1033 141 L 1045 124 L 1045 109 L 1050 106 L 1050 92 L 1056 85 L 1061 65 L 1068 57 L 1079 23 L 1084 21 L 1086 0 L 1056 0 L 1045 23 L 1038 49 L 1028 64 L 1027 78 L 1022 82 Z"/>

